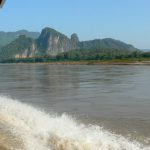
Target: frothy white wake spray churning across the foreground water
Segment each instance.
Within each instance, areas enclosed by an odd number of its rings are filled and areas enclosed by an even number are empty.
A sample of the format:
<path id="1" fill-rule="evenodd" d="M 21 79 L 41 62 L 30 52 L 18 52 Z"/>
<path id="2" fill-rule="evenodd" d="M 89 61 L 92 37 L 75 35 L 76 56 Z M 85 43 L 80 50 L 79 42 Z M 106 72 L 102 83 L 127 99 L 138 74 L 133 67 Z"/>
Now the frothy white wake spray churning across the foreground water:
<path id="1" fill-rule="evenodd" d="M 0 123 L 22 141 L 25 150 L 150 150 L 99 126 L 79 124 L 66 114 L 46 114 L 2 96 Z"/>

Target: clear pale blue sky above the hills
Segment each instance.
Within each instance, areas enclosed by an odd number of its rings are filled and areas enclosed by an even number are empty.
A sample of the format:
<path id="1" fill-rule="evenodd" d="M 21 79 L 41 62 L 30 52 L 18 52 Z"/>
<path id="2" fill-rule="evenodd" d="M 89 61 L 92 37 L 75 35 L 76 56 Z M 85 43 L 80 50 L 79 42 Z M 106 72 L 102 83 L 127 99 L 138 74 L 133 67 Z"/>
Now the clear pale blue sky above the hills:
<path id="1" fill-rule="evenodd" d="M 80 40 L 115 38 L 150 48 L 150 0 L 6 0 L 0 30 L 52 27 Z"/>

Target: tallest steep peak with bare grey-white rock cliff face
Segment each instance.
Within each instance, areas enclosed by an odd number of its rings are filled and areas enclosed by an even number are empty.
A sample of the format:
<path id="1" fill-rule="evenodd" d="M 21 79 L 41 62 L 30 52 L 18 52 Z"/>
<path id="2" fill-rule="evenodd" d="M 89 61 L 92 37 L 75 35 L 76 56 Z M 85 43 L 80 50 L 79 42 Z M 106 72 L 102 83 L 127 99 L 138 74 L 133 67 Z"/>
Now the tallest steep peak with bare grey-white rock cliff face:
<path id="1" fill-rule="evenodd" d="M 57 55 L 78 48 L 76 41 L 51 28 L 44 28 L 36 43 L 39 55 Z"/>

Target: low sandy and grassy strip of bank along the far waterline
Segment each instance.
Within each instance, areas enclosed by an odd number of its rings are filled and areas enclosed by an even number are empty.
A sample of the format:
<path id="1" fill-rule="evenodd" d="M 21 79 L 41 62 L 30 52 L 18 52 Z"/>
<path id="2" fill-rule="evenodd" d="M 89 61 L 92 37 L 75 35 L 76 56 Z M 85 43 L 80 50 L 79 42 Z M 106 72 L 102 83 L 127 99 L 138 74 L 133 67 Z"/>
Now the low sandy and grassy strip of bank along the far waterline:
<path id="1" fill-rule="evenodd" d="M 15 64 L 52 64 L 52 65 L 150 65 L 150 58 L 127 58 L 127 59 L 111 59 L 111 60 L 52 60 L 52 59 L 10 59 L 1 61 L 3 63 Z"/>

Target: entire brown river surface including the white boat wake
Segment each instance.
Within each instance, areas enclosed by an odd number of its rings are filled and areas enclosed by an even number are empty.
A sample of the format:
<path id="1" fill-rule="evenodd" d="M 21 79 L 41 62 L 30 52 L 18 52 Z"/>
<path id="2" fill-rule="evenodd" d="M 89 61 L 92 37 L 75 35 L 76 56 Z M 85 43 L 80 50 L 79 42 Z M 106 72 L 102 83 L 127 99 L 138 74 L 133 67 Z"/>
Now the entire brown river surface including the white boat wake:
<path id="1" fill-rule="evenodd" d="M 0 149 L 150 149 L 150 66 L 0 65 Z"/>

